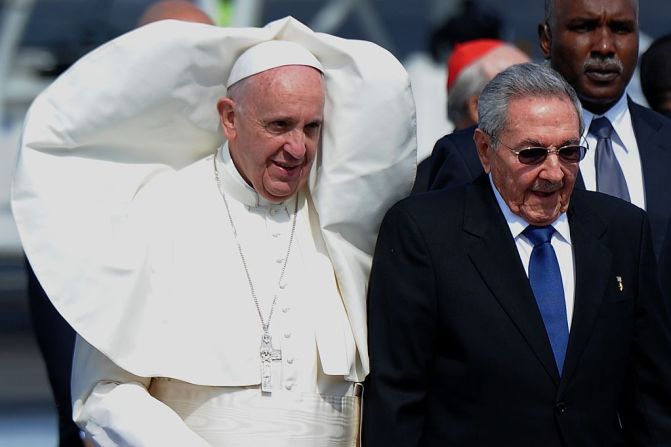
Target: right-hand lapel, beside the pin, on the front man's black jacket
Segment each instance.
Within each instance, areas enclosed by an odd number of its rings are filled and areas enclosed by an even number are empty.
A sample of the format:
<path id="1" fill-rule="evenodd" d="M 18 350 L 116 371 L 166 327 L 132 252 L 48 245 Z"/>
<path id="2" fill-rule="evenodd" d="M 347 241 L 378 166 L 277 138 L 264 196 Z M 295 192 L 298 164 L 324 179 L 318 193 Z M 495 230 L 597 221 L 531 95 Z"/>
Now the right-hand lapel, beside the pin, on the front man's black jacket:
<path id="1" fill-rule="evenodd" d="M 568 213 L 575 259 L 575 301 L 560 393 L 578 369 L 580 356 L 589 341 L 605 296 L 612 264 L 612 255 L 600 240 L 606 231 L 605 224 L 591 218 L 585 212 L 588 208 L 584 204 L 580 206 L 576 195 L 574 192 Z"/>

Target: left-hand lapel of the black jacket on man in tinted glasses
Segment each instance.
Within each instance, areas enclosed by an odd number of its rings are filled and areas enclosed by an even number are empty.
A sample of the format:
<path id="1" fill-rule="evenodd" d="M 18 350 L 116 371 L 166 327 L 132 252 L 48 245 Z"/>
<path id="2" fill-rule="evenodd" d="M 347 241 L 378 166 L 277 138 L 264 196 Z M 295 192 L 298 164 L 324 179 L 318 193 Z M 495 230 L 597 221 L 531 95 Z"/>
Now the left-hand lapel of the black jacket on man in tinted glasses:
<path id="1" fill-rule="evenodd" d="M 515 242 L 486 175 L 479 177 L 468 190 L 464 232 L 468 241 L 468 255 L 483 282 L 552 380 L 559 385 L 559 373 L 542 317 Z"/>

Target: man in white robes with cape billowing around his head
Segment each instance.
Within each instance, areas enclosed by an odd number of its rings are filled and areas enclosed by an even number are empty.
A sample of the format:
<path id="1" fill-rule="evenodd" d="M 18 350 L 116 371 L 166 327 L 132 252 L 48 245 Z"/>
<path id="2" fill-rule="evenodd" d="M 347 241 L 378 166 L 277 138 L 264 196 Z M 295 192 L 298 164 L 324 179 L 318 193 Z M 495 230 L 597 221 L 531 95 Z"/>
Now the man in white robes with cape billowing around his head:
<path id="1" fill-rule="evenodd" d="M 165 21 L 32 105 L 12 207 L 78 333 L 101 446 L 355 446 L 382 214 L 414 177 L 407 75 L 286 18 Z"/>

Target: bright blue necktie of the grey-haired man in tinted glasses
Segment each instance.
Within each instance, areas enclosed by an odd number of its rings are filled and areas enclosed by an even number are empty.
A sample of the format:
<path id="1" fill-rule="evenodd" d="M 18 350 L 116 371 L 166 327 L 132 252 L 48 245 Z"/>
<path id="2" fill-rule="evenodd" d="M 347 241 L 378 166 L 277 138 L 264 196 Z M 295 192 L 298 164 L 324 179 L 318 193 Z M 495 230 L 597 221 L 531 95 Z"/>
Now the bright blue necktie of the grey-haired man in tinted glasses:
<path id="1" fill-rule="evenodd" d="M 529 225 L 522 234 L 534 245 L 529 260 L 529 282 L 561 375 L 568 345 L 568 321 L 559 262 L 550 244 L 554 231 L 551 225 L 546 227 Z"/>

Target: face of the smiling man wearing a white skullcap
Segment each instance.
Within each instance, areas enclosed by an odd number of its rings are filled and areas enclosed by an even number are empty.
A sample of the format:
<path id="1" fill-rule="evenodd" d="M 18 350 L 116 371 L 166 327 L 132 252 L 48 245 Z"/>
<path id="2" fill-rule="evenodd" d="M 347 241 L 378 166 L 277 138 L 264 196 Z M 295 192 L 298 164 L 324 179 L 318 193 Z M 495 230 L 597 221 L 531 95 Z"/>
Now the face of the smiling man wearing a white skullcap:
<path id="1" fill-rule="evenodd" d="M 238 103 L 218 103 L 224 134 L 245 181 L 264 198 L 283 201 L 310 173 L 324 118 L 324 81 L 314 68 L 290 65 L 247 82 Z"/>

